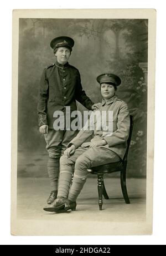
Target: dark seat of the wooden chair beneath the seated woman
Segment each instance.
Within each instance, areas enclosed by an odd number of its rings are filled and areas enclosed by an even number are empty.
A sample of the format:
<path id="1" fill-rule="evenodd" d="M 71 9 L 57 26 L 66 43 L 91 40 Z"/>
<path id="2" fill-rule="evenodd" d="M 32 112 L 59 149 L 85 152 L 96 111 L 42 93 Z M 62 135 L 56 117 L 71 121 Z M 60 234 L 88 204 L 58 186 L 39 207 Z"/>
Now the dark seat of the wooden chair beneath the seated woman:
<path id="1" fill-rule="evenodd" d="M 98 165 L 96 167 L 93 167 L 88 171 L 90 174 L 97 174 L 97 173 L 114 173 L 115 171 L 121 171 L 123 170 L 123 162 L 118 161 L 115 163 L 105 164 L 105 165 Z"/>

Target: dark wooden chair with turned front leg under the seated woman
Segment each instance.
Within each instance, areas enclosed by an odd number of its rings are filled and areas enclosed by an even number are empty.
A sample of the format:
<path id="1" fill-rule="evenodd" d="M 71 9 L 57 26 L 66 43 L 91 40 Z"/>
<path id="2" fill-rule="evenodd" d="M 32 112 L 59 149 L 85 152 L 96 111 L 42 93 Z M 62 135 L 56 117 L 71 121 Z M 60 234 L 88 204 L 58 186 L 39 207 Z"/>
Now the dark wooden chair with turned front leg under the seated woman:
<path id="1" fill-rule="evenodd" d="M 98 205 L 99 209 L 102 210 L 102 195 L 104 196 L 105 199 L 109 199 L 105 184 L 103 181 L 103 175 L 105 173 L 114 173 L 116 171 L 121 172 L 121 189 L 123 193 L 123 198 L 125 199 L 126 204 L 129 204 L 129 198 L 127 194 L 127 188 L 126 188 L 126 168 L 127 168 L 127 155 L 128 155 L 128 149 L 129 149 L 129 144 L 131 141 L 131 136 L 132 136 L 132 130 L 133 130 L 133 116 L 129 116 L 130 118 L 130 129 L 129 129 L 129 137 L 127 140 L 127 149 L 125 156 L 123 157 L 123 160 L 111 163 L 111 164 L 105 164 L 105 165 L 100 165 L 92 168 L 91 170 L 88 170 L 89 174 L 97 174 L 97 183 L 98 183 Z"/>

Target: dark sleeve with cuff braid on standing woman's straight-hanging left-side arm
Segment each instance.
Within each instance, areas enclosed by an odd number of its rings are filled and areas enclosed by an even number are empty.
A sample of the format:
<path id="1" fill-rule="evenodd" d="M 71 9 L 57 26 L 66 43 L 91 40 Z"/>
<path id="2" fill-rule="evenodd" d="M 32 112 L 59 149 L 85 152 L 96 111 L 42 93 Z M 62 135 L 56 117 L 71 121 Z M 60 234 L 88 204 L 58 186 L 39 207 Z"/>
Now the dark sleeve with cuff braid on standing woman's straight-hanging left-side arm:
<path id="1" fill-rule="evenodd" d="M 46 104 L 48 100 L 48 80 L 46 78 L 46 68 L 43 71 L 42 77 L 40 79 L 40 88 L 39 88 L 39 97 L 38 97 L 38 125 L 39 127 L 42 125 L 46 125 Z"/>

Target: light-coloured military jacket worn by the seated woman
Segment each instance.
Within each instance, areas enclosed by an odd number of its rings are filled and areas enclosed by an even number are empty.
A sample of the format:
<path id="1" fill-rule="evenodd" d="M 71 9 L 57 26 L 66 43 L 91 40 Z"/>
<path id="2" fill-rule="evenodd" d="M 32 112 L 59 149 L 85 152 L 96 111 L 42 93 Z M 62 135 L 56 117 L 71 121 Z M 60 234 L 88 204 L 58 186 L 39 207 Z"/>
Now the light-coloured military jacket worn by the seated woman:
<path id="1" fill-rule="evenodd" d="M 107 144 L 105 146 L 99 146 L 99 147 L 106 147 L 109 150 L 112 150 L 115 152 L 118 156 L 123 159 L 123 156 L 125 155 L 126 148 L 127 148 L 127 139 L 129 136 L 129 126 L 130 126 L 130 120 L 129 120 L 129 112 L 127 104 L 117 99 L 116 96 L 113 96 L 106 104 L 105 100 L 102 100 L 102 105 L 100 111 L 113 111 L 113 119 L 112 119 L 112 132 L 110 134 L 106 132 L 104 129 L 97 130 L 96 127 L 96 121 L 94 121 L 94 131 L 86 129 L 81 129 L 77 136 L 71 140 L 71 142 L 68 144 L 68 147 L 71 146 L 71 144 L 74 144 L 77 147 L 79 146 L 89 146 L 90 141 L 94 140 L 106 140 Z M 109 120 L 106 120 L 107 125 Z M 102 127 L 101 127 L 102 128 Z M 89 140 L 89 142 L 85 142 L 85 140 L 88 140 L 91 135 L 93 135 L 93 139 Z M 100 157 L 100 156 L 98 156 Z"/>

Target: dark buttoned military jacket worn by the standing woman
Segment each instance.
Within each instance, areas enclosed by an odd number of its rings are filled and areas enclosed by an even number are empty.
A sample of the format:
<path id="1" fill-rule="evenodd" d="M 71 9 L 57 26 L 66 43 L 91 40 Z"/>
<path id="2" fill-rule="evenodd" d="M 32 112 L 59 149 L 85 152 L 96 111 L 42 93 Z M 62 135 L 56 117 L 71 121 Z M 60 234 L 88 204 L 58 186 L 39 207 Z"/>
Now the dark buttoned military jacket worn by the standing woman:
<path id="1" fill-rule="evenodd" d="M 39 127 L 47 124 L 53 129 L 54 112 L 59 110 L 65 114 L 66 106 L 70 106 L 71 111 L 76 110 L 76 100 L 89 110 L 94 104 L 82 90 L 79 70 L 69 63 L 60 65 L 58 62 L 45 68 L 40 80 Z"/>

